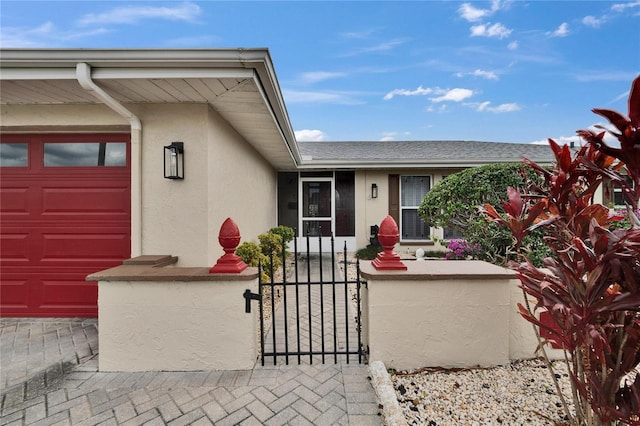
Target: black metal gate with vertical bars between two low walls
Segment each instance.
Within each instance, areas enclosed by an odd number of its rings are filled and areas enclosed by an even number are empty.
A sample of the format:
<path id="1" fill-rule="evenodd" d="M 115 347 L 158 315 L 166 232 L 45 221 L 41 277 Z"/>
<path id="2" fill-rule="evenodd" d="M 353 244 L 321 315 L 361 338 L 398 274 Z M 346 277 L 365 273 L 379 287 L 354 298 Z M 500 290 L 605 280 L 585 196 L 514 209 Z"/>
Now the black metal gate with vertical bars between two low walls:
<path id="1" fill-rule="evenodd" d="M 296 238 L 294 253 L 286 255 L 283 249 L 281 279 L 274 279 L 271 267 L 271 278 L 263 280 L 259 269 L 262 365 L 291 359 L 298 364 L 362 363 L 360 264 L 348 260 L 346 243 L 337 264 L 333 236 L 330 253 L 322 253 L 321 237 L 319 253 L 310 253 L 309 238 L 302 254 Z"/>

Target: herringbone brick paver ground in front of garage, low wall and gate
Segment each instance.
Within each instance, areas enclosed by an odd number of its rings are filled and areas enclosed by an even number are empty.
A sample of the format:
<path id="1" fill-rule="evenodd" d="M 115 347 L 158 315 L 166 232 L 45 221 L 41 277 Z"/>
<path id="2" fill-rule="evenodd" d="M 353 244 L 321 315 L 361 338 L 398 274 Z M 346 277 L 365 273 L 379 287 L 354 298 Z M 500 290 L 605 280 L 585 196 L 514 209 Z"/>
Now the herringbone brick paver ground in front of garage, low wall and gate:
<path id="1" fill-rule="evenodd" d="M 0 319 L 0 425 L 378 425 L 366 365 L 98 372 L 95 319 Z"/>

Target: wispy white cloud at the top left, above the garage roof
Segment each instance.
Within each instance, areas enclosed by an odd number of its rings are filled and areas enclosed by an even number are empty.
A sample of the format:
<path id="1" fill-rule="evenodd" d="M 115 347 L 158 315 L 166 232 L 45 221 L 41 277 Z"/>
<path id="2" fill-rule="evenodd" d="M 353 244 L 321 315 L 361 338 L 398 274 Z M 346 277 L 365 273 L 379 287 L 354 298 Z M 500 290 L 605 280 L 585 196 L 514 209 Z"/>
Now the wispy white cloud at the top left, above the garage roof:
<path id="1" fill-rule="evenodd" d="M 123 6 L 104 13 L 89 13 L 78 20 L 78 25 L 135 24 L 143 19 L 167 19 L 170 21 L 195 21 L 201 13 L 195 3 L 167 6 Z"/>

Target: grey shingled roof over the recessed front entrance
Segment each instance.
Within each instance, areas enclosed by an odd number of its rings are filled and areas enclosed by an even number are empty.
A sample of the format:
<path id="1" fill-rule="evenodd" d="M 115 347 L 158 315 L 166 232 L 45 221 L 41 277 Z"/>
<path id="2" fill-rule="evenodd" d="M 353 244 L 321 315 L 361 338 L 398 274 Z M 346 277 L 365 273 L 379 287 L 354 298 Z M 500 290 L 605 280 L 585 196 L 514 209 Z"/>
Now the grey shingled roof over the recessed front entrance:
<path id="1" fill-rule="evenodd" d="M 472 167 L 553 162 L 548 145 L 478 141 L 298 142 L 302 166 L 332 168 Z"/>

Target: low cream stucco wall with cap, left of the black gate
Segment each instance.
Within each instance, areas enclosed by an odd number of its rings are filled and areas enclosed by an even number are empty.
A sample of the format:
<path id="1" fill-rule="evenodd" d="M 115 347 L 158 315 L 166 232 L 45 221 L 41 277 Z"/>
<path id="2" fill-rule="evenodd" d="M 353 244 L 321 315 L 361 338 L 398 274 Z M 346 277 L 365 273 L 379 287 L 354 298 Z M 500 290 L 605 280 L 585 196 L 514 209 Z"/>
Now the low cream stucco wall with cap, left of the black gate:
<path id="1" fill-rule="evenodd" d="M 208 268 L 122 265 L 98 280 L 100 371 L 251 369 L 258 356 L 257 268 L 209 274 Z"/>

